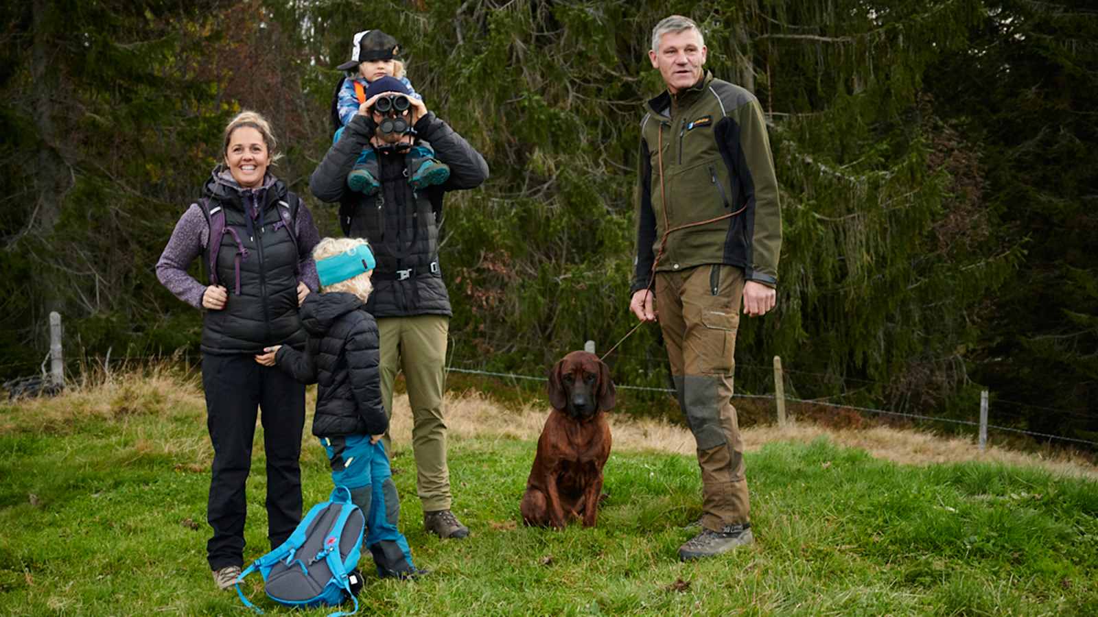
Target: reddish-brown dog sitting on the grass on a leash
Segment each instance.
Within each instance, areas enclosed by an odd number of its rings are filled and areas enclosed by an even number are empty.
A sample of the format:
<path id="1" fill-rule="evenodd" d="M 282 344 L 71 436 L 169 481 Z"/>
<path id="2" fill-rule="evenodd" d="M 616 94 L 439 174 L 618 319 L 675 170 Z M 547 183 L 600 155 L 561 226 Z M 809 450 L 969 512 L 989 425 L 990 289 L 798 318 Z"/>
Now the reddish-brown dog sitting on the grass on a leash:
<path id="1" fill-rule="evenodd" d="M 549 404 L 519 509 L 527 525 L 563 528 L 572 518 L 592 527 L 610 456 L 614 383 L 598 356 L 572 351 L 549 372 Z"/>

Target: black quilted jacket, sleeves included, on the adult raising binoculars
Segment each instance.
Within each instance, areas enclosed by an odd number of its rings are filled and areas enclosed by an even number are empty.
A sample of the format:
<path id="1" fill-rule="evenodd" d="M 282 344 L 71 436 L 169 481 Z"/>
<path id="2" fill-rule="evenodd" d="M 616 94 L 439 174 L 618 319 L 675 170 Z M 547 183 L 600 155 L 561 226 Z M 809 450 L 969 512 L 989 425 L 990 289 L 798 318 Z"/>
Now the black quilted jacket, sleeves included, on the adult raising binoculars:
<path id="1" fill-rule="evenodd" d="M 317 199 L 339 202 L 339 224 L 349 237 L 366 238 L 378 259 L 373 293 L 366 305 L 377 318 L 451 314 L 438 259 L 438 225 L 442 195 L 472 189 L 488 179 L 488 164 L 449 125 L 427 113 L 415 124 L 435 157 L 450 166 L 442 184 L 414 191 L 403 155 L 379 157 L 381 190 L 372 195 L 351 191 L 347 173 L 373 137 L 376 125 L 356 115 L 343 136 L 313 171 L 310 188 Z"/>

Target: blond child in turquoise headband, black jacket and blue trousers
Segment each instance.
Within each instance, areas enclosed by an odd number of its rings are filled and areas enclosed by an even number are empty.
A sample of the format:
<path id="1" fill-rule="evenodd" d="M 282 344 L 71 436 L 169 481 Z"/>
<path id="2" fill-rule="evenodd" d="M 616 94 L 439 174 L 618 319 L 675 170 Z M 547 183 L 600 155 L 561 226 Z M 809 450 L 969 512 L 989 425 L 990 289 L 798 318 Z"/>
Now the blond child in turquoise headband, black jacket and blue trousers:
<path id="1" fill-rule="evenodd" d="M 321 291 L 301 304 L 305 351 L 268 347 L 256 360 L 277 362 L 298 381 L 320 384 L 313 435 L 327 452 L 332 481 L 350 490 L 355 505 L 368 513 L 366 546 L 378 575 L 415 575 L 421 571 L 396 529 L 400 501 L 381 442 L 389 418 L 381 404 L 378 324 L 363 306 L 373 289 L 373 254 L 362 239 L 324 238 L 313 257 Z"/>

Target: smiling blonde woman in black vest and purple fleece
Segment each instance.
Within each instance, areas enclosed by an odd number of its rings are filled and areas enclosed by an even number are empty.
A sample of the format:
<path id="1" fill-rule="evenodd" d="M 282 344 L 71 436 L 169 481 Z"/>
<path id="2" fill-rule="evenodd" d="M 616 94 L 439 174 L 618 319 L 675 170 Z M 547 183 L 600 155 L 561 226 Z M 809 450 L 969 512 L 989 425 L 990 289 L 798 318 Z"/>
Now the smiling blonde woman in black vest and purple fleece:
<path id="1" fill-rule="evenodd" d="M 318 287 L 311 253 L 320 234 L 309 207 L 270 172 L 277 146 L 264 116 L 234 117 L 203 198 L 179 218 L 156 263 L 160 282 L 203 312 L 202 388 L 214 450 L 206 559 L 222 590 L 232 588 L 244 564 L 244 487 L 259 410 L 271 548 L 301 521 L 305 389 L 272 367 L 264 349 L 305 344 L 298 305 Z M 200 256 L 208 281 L 187 272 Z"/>

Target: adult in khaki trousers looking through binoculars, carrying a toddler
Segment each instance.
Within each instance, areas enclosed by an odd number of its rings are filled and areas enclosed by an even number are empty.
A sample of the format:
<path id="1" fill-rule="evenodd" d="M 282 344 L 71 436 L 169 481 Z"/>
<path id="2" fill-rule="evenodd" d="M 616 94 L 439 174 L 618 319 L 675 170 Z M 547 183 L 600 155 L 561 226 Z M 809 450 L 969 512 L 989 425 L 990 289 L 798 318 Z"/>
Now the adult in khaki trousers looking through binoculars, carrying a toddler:
<path id="1" fill-rule="evenodd" d="M 381 391 L 392 417 L 393 383 L 404 371 L 412 406 L 412 449 L 424 527 L 440 538 L 464 538 L 469 528 L 451 512 L 442 380 L 450 301 L 438 256 L 446 192 L 472 189 L 488 179 L 488 164 L 449 125 L 393 77 L 370 82 L 365 102 L 344 127 L 310 180 L 322 201 L 339 202 L 339 224 L 350 237 L 367 238 L 377 267 L 366 310 L 378 322 Z M 449 166 L 445 182 L 415 187 L 408 153 L 428 141 Z M 355 190 L 348 175 L 363 148 L 378 158 L 377 191 Z M 385 450 L 392 451 L 389 435 Z"/>

